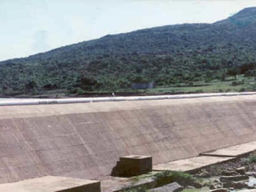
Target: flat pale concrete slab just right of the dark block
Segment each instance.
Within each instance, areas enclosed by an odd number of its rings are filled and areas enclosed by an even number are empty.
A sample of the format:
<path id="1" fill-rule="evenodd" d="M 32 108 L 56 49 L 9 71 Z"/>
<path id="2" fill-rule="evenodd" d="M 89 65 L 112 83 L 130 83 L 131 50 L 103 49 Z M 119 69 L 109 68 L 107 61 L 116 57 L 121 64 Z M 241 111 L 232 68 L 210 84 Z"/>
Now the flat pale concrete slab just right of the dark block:
<path id="1" fill-rule="evenodd" d="M 192 173 L 212 164 L 233 160 L 232 157 L 199 156 L 153 166 L 153 170 L 172 170 Z"/>

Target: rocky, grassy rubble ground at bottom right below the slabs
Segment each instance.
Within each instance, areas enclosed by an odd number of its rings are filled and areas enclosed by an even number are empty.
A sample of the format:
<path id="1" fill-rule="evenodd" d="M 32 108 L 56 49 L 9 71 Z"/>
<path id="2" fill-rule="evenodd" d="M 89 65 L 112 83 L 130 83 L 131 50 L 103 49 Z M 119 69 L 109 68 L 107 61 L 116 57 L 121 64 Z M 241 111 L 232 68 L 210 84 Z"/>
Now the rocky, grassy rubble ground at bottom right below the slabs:
<path id="1" fill-rule="evenodd" d="M 147 192 L 152 188 L 166 186 L 177 182 L 183 188 L 182 192 L 209 192 L 221 190 L 225 192 L 256 189 L 256 152 L 239 157 L 236 160 L 223 162 L 201 168 L 196 173 L 188 174 L 180 171 L 159 171 L 132 178 L 132 186 L 120 192 Z M 139 181 L 151 178 L 154 180 L 147 185 L 139 185 Z M 171 189 L 170 189 L 171 191 Z"/>

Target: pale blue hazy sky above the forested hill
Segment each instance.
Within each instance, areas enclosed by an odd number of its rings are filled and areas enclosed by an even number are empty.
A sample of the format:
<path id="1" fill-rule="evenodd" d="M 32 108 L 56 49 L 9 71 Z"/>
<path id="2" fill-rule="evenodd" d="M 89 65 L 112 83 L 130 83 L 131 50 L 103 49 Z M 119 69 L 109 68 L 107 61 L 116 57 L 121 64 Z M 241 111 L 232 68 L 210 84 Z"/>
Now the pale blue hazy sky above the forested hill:
<path id="1" fill-rule="evenodd" d="M 0 0 L 0 60 L 108 34 L 213 23 L 256 0 Z"/>

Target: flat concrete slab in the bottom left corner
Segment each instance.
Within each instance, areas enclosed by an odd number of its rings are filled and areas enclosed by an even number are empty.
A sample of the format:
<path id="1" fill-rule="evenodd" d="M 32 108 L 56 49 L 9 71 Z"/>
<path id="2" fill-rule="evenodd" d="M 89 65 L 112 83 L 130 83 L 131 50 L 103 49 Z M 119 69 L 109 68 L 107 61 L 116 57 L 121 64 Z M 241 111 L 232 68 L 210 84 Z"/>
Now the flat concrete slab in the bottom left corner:
<path id="1" fill-rule="evenodd" d="M 45 176 L 0 184 L 1 192 L 100 192 L 100 182 L 67 177 Z"/>

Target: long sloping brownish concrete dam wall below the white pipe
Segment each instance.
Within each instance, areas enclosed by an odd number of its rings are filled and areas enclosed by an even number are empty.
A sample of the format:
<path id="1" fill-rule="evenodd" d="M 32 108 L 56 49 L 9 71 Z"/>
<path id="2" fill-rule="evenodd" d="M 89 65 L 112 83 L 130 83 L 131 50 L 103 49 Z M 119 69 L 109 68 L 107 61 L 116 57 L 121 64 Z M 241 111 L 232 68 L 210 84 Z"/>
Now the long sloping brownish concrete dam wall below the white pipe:
<path id="1" fill-rule="evenodd" d="M 256 140 L 256 96 L 0 107 L 0 183 L 95 179 L 119 156 L 153 164 Z"/>

